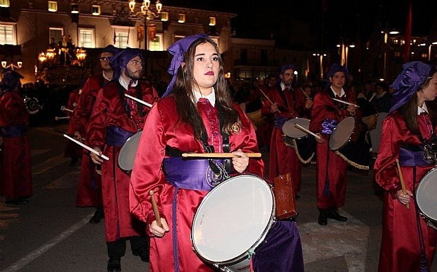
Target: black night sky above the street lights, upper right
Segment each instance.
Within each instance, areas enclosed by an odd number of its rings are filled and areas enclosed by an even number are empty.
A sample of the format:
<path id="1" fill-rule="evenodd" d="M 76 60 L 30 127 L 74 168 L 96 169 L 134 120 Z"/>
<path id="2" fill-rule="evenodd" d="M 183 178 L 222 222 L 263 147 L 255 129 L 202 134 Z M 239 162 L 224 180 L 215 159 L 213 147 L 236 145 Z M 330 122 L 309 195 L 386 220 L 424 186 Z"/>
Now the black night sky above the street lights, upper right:
<path id="1" fill-rule="evenodd" d="M 383 29 L 396 28 L 401 33 L 405 29 L 408 0 L 286 0 L 286 1 L 248 1 L 248 0 L 161 0 L 163 5 L 186 6 L 234 12 L 238 16 L 232 21 L 232 28 L 237 36 L 243 38 L 281 39 L 283 25 L 293 21 L 309 21 L 312 36 L 317 36 L 319 43 L 323 35 L 324 43 L 338 43 L 340 37 L 362 43 L 369 40 L 374 25 L 379 20 Z M 269 5 L 270 3 L 275 5 Z M 427 35 L 437 18 L 436 0 L 412 1 L 412 33 Z M 315 45 L 320 47 L 321 44 Z"/>

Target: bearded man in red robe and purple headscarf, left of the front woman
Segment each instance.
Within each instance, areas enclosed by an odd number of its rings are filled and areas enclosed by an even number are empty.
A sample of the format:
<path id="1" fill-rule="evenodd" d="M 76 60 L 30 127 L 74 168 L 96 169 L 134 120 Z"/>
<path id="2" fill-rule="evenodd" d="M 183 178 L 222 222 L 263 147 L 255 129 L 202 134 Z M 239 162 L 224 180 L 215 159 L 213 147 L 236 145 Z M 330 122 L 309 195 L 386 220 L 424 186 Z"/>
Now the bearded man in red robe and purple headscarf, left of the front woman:
<path id="1" fill-rule="evenodd" d="M 126 48 L 113 56 L 110 63 L 114 69 L 112 81 L 105 84 L 96 96 L 86 138 L 95 151 L 110 158 L 104 161 L 94 153 L 90 155 L 93 163 L 101 165 L 109 257 L 107 270 L 121 271 L 121 257 L 125 255 L 127 239 L 130 240 L 132 253 L 143 262 L 149 261 L 145 225 L 130 214 L 130 177 L 116 162 L 125 141 L 143 129 L 150 108 L 126 98 L 125 94 L 150 104 L 158 101 L 159 96 L 148 81 L 141 81 L 144 59 L 139 49 Z"/>

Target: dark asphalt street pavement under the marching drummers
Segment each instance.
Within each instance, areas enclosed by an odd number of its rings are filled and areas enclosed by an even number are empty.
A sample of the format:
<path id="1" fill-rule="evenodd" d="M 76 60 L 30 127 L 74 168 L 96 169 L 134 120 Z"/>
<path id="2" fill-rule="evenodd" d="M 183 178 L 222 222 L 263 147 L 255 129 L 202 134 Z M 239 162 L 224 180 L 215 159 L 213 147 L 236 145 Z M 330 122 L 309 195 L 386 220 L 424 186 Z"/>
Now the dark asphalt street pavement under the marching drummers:
<path id="1" fill-rule="evenodd" d="M 80 168 L 63 157 L 66 139 L 59 131 L 66 127 L 65 122 L 30 128 L 34 196 L 26 205 L 4 205 L 0 199 L 0 272 L 106 271 L 104 223 L 89 224 L 94 209 L 75 207 Z M 262 153 L 268 166 L 268 152 Z M 304 165 L 296 200 L 305 271 L 377 271 L 383 192 L 372 170 L 349 169 L 340 209 L 349 220 L 329 219 L 327 226 L 317 223 L 315 175 L 315 165 Z M 129 242 L 121 266 L 149 271 L 148 263 L 132 255 Z"/>

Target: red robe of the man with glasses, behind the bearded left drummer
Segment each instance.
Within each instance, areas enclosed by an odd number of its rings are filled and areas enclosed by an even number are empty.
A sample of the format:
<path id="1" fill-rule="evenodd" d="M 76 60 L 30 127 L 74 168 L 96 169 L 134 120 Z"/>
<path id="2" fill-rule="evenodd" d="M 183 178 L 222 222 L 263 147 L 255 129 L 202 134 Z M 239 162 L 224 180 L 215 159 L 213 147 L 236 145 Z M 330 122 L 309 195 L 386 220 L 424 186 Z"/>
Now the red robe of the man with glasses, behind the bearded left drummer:
<path id="1" fill-rule="evenodd" d="M 96 101 L 103 83 L 108 80 L 103 78 L 102 72 L 93 74 L 83 85 L 81 95 L 77 101 L 77 107 L 74 108 L 72 115 L 73 132 L 78 131 L 85 138 L 88 120 L 90 119 L 92 108 Z M 86 138 L 85 138 L 86 139 Z M 83 141 L 88 145 L 88 141 Z M 90 151 L 83 149 L 81 172 L 77 184 L 76 195 L 77 207 L 101 207 L 103 200 L 101 196 L 101 176 L 96 172 L 96 166 L 90 158 Z"/>

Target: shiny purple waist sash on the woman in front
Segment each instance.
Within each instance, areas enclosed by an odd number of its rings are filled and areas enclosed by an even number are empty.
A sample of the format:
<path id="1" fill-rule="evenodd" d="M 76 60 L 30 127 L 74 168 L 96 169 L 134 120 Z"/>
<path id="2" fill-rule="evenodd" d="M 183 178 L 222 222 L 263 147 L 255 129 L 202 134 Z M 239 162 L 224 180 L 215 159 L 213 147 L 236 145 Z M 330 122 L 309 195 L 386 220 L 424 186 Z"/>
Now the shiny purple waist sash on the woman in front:
<path id="1" fill-rule="evenodd" d="M 223 166 L 223 160 L 215 160 Z M 182 157 L 165 158 L 163 162 L 165 179 L 176 188 L 210 191 L 225 180 L 210 168 L 208 160 L 187 160 Z"/>

